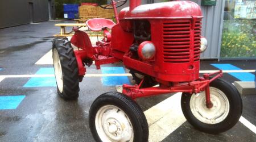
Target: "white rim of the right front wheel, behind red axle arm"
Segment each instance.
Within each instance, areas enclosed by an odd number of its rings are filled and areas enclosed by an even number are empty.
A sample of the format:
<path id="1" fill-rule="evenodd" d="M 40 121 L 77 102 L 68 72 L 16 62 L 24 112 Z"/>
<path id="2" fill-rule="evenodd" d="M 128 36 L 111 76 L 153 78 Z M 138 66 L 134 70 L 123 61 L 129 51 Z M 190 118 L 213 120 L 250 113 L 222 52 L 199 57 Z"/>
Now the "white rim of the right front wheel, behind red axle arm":
<path id="1" fill-rule="evenodd" d="M 205 100 L 205 91 L 203 91 L 200 94 L 192 94 L 189 103 L 192 114 L 200 122 L 217 124 L 228 116 L 229 100 L 221 90 L 210 87 L 210 101 L 213 103 L 212 108 L 207 108 Z"/>

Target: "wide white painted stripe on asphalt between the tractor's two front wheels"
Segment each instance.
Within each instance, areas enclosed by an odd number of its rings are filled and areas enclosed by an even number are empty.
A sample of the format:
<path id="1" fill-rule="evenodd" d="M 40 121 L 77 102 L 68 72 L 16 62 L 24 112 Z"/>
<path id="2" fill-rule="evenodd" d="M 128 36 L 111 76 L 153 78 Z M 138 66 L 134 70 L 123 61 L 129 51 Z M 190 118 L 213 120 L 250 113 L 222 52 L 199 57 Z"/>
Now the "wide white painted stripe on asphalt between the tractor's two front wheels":
<path id="1" fill-rule="evenodd" d="M 181 93 L 176 93 L 144 111 L 149 126 L 148 141 L 162 141 L 186 121 L 180 99 Z"/>

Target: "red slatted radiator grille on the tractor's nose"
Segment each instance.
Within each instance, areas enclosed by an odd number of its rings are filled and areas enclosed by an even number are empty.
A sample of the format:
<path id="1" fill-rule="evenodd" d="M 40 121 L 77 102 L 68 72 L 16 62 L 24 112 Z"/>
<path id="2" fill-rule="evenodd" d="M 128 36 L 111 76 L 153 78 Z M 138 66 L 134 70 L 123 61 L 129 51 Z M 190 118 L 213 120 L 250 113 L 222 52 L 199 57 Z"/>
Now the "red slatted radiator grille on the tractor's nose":
<path id="1" fill-rule="evenodd" d="M 195 22 L 193 30 L 191 30 L 192 26 L 192 20 L 168 20 L 163 23 L 164 62 L 200 60 L 200 20 Z M 193 42 L 191 42 L 192 39 L 194 40 Z M 191 46 L 191 44 L 194 45 Z M 193 52 L 191 52 L 191 48 L 193 48 Z"/>

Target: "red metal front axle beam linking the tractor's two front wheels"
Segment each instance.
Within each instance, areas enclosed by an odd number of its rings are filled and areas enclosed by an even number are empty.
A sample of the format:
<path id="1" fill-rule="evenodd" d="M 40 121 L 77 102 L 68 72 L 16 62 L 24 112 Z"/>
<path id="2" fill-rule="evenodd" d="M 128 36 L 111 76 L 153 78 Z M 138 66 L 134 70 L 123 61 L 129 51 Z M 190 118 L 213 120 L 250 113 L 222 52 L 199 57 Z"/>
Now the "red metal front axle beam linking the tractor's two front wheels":
<path id="1" fill-rule="evenodd" d="M 216 75 L 209 79 L 209 77 Z M 190 93 L 196 94 L 201 91 L 205 91 L 206 105 L 208 108 L 212 107 L 212 102 L 210 102 L 210 91 L 209 91 L 209 83 L 213 80 L 216 80 L 218 77 L 222 77 L 222 70 L 210 74 L 204 74 L 204 78 L 200 78 L 199 81 L 191 81 L 191 82 L 176 82 L 173 86 L 159 86 L 159 87 L 148 87 L 148 88 L 140 88 L 143 81 L 139 85 L 123 85 L 122 93 L 129 96 L 132 99 L 137 99 L 141 97 L 148 97 L 152 95 L 161 95 L 166 93 Z"/>

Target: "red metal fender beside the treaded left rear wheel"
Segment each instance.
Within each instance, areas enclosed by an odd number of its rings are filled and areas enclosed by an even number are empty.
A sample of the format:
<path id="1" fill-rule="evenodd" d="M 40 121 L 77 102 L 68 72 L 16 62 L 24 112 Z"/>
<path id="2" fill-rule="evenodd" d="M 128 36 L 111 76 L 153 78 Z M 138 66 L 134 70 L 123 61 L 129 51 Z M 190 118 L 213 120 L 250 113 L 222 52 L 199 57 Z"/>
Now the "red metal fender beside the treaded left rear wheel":
<path id="1" fill-rule="evenodd" d="M 93 59 L 92 43 L 86 32 L 77 30 L 71 38 L 71 43 L 85 51 L 85 55 L 83 55 L 84 57 Z"/>

